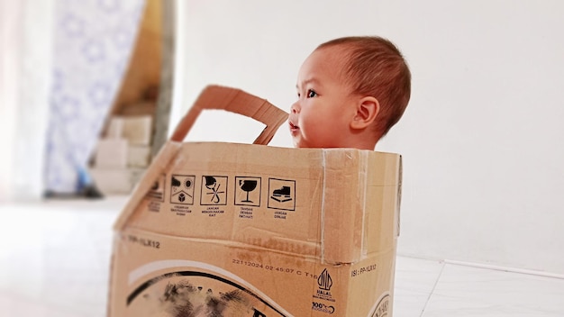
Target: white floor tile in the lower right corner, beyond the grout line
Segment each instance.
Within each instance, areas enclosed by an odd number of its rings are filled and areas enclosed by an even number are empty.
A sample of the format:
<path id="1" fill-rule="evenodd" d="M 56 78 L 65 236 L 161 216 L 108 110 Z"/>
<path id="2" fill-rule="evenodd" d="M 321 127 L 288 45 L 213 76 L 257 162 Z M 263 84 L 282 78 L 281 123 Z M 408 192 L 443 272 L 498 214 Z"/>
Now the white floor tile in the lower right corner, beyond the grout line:
<path id="1" fill-rule="evenodd" d="M 564 280 L 446 265 L 423 317 L 564 316 Z"/>

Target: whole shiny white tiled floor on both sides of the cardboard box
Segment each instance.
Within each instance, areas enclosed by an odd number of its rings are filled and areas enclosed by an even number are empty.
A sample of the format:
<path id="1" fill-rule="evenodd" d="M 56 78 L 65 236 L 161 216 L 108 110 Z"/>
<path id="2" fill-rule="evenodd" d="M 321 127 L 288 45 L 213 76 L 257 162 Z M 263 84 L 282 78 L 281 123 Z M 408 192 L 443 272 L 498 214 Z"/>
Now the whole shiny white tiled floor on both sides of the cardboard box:
<path id="1" fill-rule="evenodd" d="M 124 203 L 0 204 L 0 316 L 105 316 Z M 395 317 L 560 317 L 564 279 L 398 257 L 394 307 Z"/>

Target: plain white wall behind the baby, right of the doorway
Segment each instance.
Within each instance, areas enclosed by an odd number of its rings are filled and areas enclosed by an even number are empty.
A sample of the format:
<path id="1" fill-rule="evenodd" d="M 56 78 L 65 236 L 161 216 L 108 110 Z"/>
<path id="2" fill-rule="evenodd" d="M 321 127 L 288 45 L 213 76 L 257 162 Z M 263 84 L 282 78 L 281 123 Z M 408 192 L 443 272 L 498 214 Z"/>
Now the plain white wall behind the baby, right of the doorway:
<path id="1" fill-rule="evenodd" d="M 405 159 L 399 253 L 564 274 L 564 3 L 177 5 L 173 125 L 211 83 L 287 110 L 297 69 L 317 44 L 385 36 L 413 73 L 405 117 L 377 147 Z M 272 144 L 291 146 L 285 128 Z"/>

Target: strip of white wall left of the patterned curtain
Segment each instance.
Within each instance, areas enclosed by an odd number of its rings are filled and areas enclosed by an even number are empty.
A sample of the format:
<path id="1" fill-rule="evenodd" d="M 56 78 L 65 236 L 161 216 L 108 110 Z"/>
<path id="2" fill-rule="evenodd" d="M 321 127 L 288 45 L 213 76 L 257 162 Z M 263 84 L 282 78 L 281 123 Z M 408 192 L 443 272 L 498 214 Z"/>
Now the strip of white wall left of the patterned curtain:
<path id="1" fill-rule="evenodd" d="M 43 195 L 54 3 L 0 0 L 0 202 Z"/>

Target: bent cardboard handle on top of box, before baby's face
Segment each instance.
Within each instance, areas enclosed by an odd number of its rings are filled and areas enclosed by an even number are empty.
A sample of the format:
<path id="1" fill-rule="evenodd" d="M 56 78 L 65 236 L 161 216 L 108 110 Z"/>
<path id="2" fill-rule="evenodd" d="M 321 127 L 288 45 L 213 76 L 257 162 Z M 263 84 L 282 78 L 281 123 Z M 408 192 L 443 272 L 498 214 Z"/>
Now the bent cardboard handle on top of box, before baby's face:
<path id="1" fill-rule="evenodd" d="M 263 122 L 266 124 L 266 127 L 253 142 L 254 144 L 263 145 L 268 144 L 272 140 L 274 133 L 288 118 L 288 113 L 277 108 L 274 104 L 268 103 L 266 99 L 247 94 L 241 89 L 225 86 L 206 86 L 198 96 L 196 103 L 192 105 L 192 108 L 178 123 L 177 129 L 170 137 L 170 140 L 183 141 L 194 122 L 196 122 L 198 115 L 204 109 L 226 110 Z"/>

